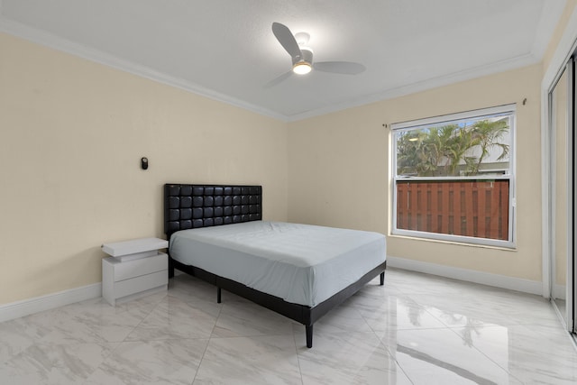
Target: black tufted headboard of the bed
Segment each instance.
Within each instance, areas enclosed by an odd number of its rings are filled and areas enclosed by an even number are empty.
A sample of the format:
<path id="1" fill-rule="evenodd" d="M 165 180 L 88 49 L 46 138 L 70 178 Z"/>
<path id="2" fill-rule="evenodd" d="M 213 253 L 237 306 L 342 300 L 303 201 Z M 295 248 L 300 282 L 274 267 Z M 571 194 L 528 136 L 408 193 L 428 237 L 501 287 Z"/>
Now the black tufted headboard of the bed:
<path id="1" fill-rule="evenodd" d="M 164 185 L 164 233 L 262 219 L 262 187 Z"/>

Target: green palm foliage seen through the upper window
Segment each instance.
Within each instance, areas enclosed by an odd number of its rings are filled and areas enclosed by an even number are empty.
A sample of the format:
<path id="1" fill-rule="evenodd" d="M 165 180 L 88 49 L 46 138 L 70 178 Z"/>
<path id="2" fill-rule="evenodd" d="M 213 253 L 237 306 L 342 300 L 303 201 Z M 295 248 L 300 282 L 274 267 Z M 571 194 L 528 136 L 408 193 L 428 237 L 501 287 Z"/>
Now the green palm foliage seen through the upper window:
<path id="1" fill-rule="evenodd" d="M 492 148 L 501 151 L 498 160 L 508 156 L 508 144 L 499 142 L 508 128 L 506 120 L 481 120 L 397 133 L 398 175 L 477 175 Z"/>

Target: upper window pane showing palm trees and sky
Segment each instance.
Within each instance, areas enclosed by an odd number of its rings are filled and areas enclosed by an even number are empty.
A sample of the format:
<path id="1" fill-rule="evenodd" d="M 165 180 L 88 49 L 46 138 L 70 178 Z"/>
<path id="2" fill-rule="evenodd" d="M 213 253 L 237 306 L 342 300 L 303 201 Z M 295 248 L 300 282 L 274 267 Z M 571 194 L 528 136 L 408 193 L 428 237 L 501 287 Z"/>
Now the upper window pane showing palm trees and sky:
<path id="1" fill-rule="evenodd" d="M 508 175 L 512 113 L 395 132 L 398 177 Z"/>

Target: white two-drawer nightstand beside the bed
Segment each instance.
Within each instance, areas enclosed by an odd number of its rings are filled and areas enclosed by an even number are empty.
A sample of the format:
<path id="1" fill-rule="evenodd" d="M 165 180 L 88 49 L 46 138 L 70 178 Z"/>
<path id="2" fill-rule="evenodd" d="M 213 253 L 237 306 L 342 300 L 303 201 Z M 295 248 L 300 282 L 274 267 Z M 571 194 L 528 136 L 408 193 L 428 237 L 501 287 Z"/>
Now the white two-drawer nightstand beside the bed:
<path id="1" fill-rule="evenodd" d="M 118 300 L 166 290 L 169 259 L 159 249 L 167 247 L 169 242 L 160 238 L 103 244 L 103 252 L 112 255 L 102 260 L 102 297 L 106 302 L 114 306 Z"/>

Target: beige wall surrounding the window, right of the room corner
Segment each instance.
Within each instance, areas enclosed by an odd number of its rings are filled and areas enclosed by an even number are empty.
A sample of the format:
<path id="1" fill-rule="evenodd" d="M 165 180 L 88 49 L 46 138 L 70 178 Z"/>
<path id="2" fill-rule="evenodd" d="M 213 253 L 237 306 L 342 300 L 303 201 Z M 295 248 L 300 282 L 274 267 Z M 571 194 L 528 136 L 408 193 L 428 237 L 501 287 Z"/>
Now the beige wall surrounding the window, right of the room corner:
<path id="1" fill-rule="evenodd" d="M 517 250 L 389 235 L 388 254 L 541 280 L 541 76 L 535 65 L 289 124 L 289 221 L 389 234 L 390 124 L 517 103 Z"/>

